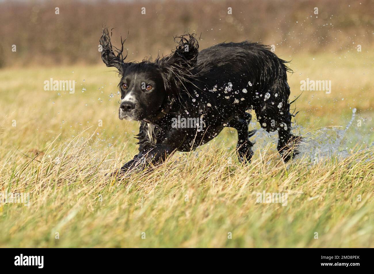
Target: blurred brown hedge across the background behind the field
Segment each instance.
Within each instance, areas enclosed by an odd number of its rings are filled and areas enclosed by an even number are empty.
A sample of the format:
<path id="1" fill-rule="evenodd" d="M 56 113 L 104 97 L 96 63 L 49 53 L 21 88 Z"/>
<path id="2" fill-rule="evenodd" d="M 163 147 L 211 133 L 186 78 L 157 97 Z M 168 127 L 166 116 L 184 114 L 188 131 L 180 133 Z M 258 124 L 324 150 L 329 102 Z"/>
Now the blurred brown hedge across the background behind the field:
<path id="1" fill-rule="evenodd" d="M 0 67 L 101 62 L 102 24 L 115 27 L 114 45 L 129 31 L 129 60 L 168 54 L 172 37 L 188 30 L 201 34 L 200 48 L 248 39 L 290 53 L 367 49 L 373 48 L 373 10 L 370 0 L 3 1 Z"/>

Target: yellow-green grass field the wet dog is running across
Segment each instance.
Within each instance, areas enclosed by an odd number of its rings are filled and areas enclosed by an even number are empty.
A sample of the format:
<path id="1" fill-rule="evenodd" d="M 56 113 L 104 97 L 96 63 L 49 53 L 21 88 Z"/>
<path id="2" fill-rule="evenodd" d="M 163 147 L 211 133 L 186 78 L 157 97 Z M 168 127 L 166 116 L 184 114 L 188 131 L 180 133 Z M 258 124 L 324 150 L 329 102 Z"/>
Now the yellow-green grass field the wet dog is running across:
<path id="1" fill-rule="evenodd" d="M 304 131 L 318 138 L 319 127 L 345 127 L 357 108 L 341 147 L 352 148 L 347 158 L 283 164 L 264 139 L 242 166 L 227 129 L 197 152 L 123 181 L 104 174 L 136 152 L 137 124 L 117 118 L 110 69 L 1 70 L 0 193 L 29 192 L 30 205 L 0 204 L 0 246 L 374 247 L 373 148 L 360 150 L 373 141 L 373 55 L 292 59 L 291 98 L 307 77 L 332 81 L 331 94 L 297 100 Z M 51 77 L 75 80 L 75 93 L 44 91 Z M 256 203 L 263 191 L 287 193 L 286 205 Z"/>

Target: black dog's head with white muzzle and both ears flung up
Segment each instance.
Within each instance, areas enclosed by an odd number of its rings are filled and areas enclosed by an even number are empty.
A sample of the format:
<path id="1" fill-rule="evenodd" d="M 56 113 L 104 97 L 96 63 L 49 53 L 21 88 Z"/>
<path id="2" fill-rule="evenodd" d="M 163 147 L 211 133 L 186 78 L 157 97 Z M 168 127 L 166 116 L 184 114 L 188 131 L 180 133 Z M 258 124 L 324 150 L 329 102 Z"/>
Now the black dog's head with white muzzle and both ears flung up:
<path id="1" fill-rule="evenodd" d="M 104 29 L 100 39 L 101 58 L 107 67 L 116 67 L 121 76 L 119 90 L 121 103 L 119 118 L 141 121 L 152 119 L 164 112 L 168 104 L 178 96 L 180 85 L 193 77 L 191 71 L 196 64 L 199 45 L 194 34 L 187 34 L 178 41 L 176 50 L 164 58 L 157 58 L 153 63 L 126 62 L 122 48 L 111 45 L 111 34 Z M 114 54 L 116 52 L 116 54 Z"/>

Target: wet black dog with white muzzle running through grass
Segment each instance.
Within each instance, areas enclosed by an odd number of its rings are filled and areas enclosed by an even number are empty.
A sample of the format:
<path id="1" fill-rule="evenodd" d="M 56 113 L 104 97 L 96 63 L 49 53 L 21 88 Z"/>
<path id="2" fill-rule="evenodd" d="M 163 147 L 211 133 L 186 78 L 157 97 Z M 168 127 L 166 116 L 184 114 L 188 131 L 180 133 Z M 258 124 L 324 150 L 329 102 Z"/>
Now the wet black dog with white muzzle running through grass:
<path id="1" fill-rule="evenodd" d="M 249 162 L 253 143 L 248 132 L 254 109 L 266 131 L 278 130 L 278 150 L 284 161 L 297 151 L 300 137 L 291 134 L 289 86 L 285 66 L 269 46 L 260 43 L 221 43 L 199 52 L 195 34 L 176 37 L 170 55 L 154 62 L 125 63 L 122 48 L 111 45 L 104 29 L 102 60 L 121 76 L 120 119 L 141 121 L 136 138 L 139 153 L 120 169 L 144 169 L 178 151 L 191 151 L 216 137 L 224 127 L 238 133 L 237 154 Z M 125 39 L 126 40 L 126 39 Z M 116 54 L 114 54 L 116 52 Z M 187 121 L 187 122 L 186 122 Z"/>

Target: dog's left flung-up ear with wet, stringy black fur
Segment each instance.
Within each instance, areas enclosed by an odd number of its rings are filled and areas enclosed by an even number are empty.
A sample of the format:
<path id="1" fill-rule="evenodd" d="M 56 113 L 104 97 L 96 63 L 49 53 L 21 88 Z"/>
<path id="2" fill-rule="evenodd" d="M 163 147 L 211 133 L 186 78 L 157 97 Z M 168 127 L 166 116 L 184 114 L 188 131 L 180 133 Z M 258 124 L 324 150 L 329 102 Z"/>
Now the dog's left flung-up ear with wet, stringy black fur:
<path id="1" fill-rule="evenodd" d="M 121 49 L 117 49 L 115 46 L 112 46 L 110 40 L 112 36 L 112 30 L 110 30 L 110 34 L 108 28 L 103 28 L 102 30 L 102 36 L 99 40 L 101 45 L 101 59 L 104 62 L 104 64 L 107 65 L 107 67 L 115 67 L 118 69 L 118 72 L 120 74 L 123 74 L 125 68 L 131 64 L 124 62 L 124 60 L 127 57 L 127 54 L 125 57 L 123 57 L 122 55 L 123 44 L 125 43 L 126 39 L 122 40 L 121 37 Z M 114 54 L 114 52 L 116 52 L 116 54 Z"/>

